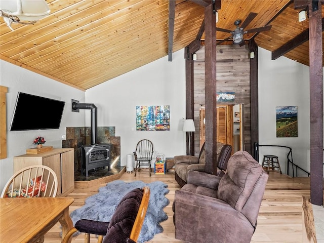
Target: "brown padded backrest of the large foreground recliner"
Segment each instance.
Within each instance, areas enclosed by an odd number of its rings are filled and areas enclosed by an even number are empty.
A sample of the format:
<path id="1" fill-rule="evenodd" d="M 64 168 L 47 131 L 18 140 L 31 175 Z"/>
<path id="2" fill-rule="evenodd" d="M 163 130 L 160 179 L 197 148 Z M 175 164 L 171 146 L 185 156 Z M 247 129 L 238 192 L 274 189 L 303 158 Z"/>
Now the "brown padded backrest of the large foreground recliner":
<path id="1" fill-rule="evenodd" d="M 217 197 L 241 212 L 263 169 L 248 152 L 237 151 L 228 160 L 227 173 L 221 178 Z"/>

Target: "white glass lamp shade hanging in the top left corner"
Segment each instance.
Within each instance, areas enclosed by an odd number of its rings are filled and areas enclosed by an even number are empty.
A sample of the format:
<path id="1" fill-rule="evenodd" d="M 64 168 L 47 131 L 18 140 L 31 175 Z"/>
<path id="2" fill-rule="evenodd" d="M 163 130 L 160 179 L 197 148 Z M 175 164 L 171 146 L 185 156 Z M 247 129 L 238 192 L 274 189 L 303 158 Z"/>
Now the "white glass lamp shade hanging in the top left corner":
<path id="1" fill-rule="evenodd" d="M 1 0 L 0 9 L 25 21 L 37 21 L 51 12 L 45 0 Z"/>

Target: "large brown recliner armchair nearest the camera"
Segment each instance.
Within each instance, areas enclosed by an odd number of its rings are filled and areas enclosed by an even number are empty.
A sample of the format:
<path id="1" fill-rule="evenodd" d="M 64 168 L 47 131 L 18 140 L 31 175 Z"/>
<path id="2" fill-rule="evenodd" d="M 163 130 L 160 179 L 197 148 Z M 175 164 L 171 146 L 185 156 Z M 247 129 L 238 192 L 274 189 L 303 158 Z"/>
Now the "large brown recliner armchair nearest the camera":
<path id="1" fill-rule="evenodd" d="M 195 243 L 247 243 L 257 218 L 268 174 L 248 152 L 234 153 L 223 177 L 189 171 L 175 192 L 175 237 Z"/>

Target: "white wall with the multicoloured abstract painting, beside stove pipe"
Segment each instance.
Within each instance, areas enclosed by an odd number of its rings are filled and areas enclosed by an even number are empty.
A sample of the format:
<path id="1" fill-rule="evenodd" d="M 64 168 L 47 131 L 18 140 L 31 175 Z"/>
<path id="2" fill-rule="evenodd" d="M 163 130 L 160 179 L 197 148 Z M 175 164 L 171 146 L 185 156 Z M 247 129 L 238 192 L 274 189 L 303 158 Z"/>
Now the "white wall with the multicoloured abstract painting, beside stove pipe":
<path id="1" fill-rule="evenodd" d="M 86 91 L 86 102 L 98 107 L 98 126 L 115 126 L 120 137 L 120 164 L 135 151 L 141 139 L 149 139 L 154 154 L 185 154 L 182 118 L 186 115 L 184 51 L 173 53 Z M 170 105 L 170 131 L 136 131 L 137 105 Z M 90 126 L 90 113 L 86 112 Z M 153 161 L 152 161 L 153 162 Z"/>

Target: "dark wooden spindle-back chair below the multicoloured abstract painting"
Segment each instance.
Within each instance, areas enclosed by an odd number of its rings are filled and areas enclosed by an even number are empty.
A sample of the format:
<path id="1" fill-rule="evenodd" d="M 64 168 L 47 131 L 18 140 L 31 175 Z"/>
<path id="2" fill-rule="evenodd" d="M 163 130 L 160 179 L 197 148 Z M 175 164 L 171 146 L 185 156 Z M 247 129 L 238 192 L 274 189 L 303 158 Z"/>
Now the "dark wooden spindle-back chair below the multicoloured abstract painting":
<path id="1" fill-rule="evenodd" d="M 134 158 L 136 161 L 135 166 L 135 176 L 136 172 L 140 170 L 140 166 L 148 166 L 148 173 L 151 176 L 151 160 L 153 156 L 153 144 L 150 140 L 142 139 L 136 145 L 136 150 L 134 153 Z"/>

